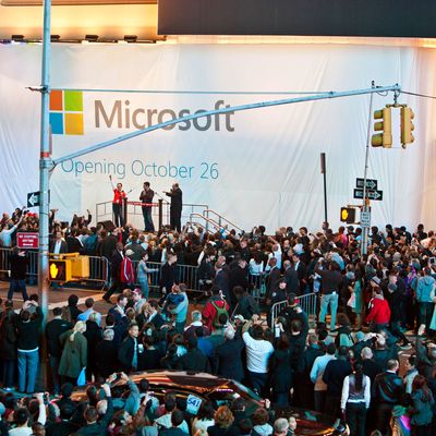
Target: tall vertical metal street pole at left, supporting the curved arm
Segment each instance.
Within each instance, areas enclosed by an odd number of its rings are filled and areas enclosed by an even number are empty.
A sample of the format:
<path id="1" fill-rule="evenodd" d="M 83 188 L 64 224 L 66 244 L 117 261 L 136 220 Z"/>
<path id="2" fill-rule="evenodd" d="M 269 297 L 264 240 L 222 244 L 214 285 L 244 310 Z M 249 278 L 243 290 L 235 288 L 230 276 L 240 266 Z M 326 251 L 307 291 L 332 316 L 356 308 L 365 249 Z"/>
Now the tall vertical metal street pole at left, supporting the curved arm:
<path id="1" fill-rule="evenodd" d="M 41 123 L 39 156 L 39 249 L 38 249 L 38 295 L 43 311 L 43 331 L 48 315 L 48 239 L 49 239 L 49 170 L 52 168 L 50 157 L 50 12 L 51 0 L 44 1 L 44 36 L 43 36 L 43 72 L 41 72 Z M 41 382 L 47 387 L 46 340 L 41 343 Z"/>

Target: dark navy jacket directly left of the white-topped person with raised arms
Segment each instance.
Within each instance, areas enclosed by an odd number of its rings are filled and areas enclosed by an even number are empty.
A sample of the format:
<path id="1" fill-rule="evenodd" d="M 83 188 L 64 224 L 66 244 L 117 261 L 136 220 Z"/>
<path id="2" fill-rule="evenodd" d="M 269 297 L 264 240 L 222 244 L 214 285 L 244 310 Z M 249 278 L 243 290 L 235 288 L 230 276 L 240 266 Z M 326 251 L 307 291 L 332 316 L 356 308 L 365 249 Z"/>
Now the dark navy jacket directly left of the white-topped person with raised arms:
<path id="1" fill-rule="evenodd" d="M 244 348 L 243 339 L 234 338 L 232 340 L 226 339 L 215 349 L 216 367 L 219 376 L 242 382 L 244 378 L 244 365 L 242 363 Z"/>

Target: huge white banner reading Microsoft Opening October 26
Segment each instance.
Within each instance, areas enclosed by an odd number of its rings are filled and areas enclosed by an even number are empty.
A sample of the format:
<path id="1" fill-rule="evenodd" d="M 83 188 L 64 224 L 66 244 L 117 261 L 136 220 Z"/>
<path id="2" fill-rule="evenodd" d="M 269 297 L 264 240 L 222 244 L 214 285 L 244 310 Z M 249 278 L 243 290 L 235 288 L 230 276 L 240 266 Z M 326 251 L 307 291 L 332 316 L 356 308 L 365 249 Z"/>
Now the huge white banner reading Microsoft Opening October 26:
<path id="1" fill-rule="evenodd" d="M 0 208 L 24 204 L 38 190 L 40 46 L 0 46 Z M 348 90 L 399 83 L 435 94 L 435 55 L 410 48 L 288 45 L 57 45 L 52 47 L 50 120 L 53 157 L 197 111 L 280 98 L 288 90 Z M 257 94 L 247 94 L 255 92 Z M 245 93 L 245 94 L 244 94 Z M 392 96 L 374 97 L 374 109 Z M 435 131 L 428 99 L 402 95 L 415 112 L 415 143 L 371 149 L 371 179 L 383 202 L 372 222 L 433 225 L 424 168 Z M 207 204 L 249 229 L 324 220 L 319 154 L 327 156 L 329 221 L 363 177 L 370 96 L 302 102 L 201 118 L 152 132 L 59 165 L 50 179 L 59 218 L 111 199 L 109 174 L 137 201 L 149 181 L 161 193 L 178 181 L 184 203 Z M 399 114 L 393 116 L 399 125 Z M 427 123 L 428 121 L 428 123 Z M 398 129 L 398 126 L 397 126 Z"/>

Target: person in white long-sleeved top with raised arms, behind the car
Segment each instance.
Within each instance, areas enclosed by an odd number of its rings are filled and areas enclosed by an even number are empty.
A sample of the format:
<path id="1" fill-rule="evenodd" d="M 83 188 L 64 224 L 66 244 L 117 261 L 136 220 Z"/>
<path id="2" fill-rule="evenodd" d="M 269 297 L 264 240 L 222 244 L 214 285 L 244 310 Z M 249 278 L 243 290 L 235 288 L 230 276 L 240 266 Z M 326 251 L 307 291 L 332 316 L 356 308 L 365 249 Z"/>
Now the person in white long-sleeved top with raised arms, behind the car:
<path id="1" fill-rule="evenodd" d="M 262 325 L 254 324 L 258 319 L 258 315 L 253 315 L 252 319 L 244 324 L 242 339 L 246 347 L 246 367 L 251 387 L 254 391 L 262 393 L 268 379 L 268 362 L 274 347 L 271 342 L 264 339 Z M 249 329 L 252 326 L 250 334 Z"/>

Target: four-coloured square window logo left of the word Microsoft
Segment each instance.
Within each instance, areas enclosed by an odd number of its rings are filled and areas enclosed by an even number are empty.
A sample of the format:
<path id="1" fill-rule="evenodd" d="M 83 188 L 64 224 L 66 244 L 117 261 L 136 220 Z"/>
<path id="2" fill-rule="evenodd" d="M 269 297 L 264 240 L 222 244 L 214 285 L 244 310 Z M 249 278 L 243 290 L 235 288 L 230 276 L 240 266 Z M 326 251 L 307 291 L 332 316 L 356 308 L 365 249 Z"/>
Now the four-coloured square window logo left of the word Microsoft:
<path id="1" fill-rule="evenodd" d="M 55 135 L 83 135 L 82 90 L 50 92 L 50 125 Z"/>

